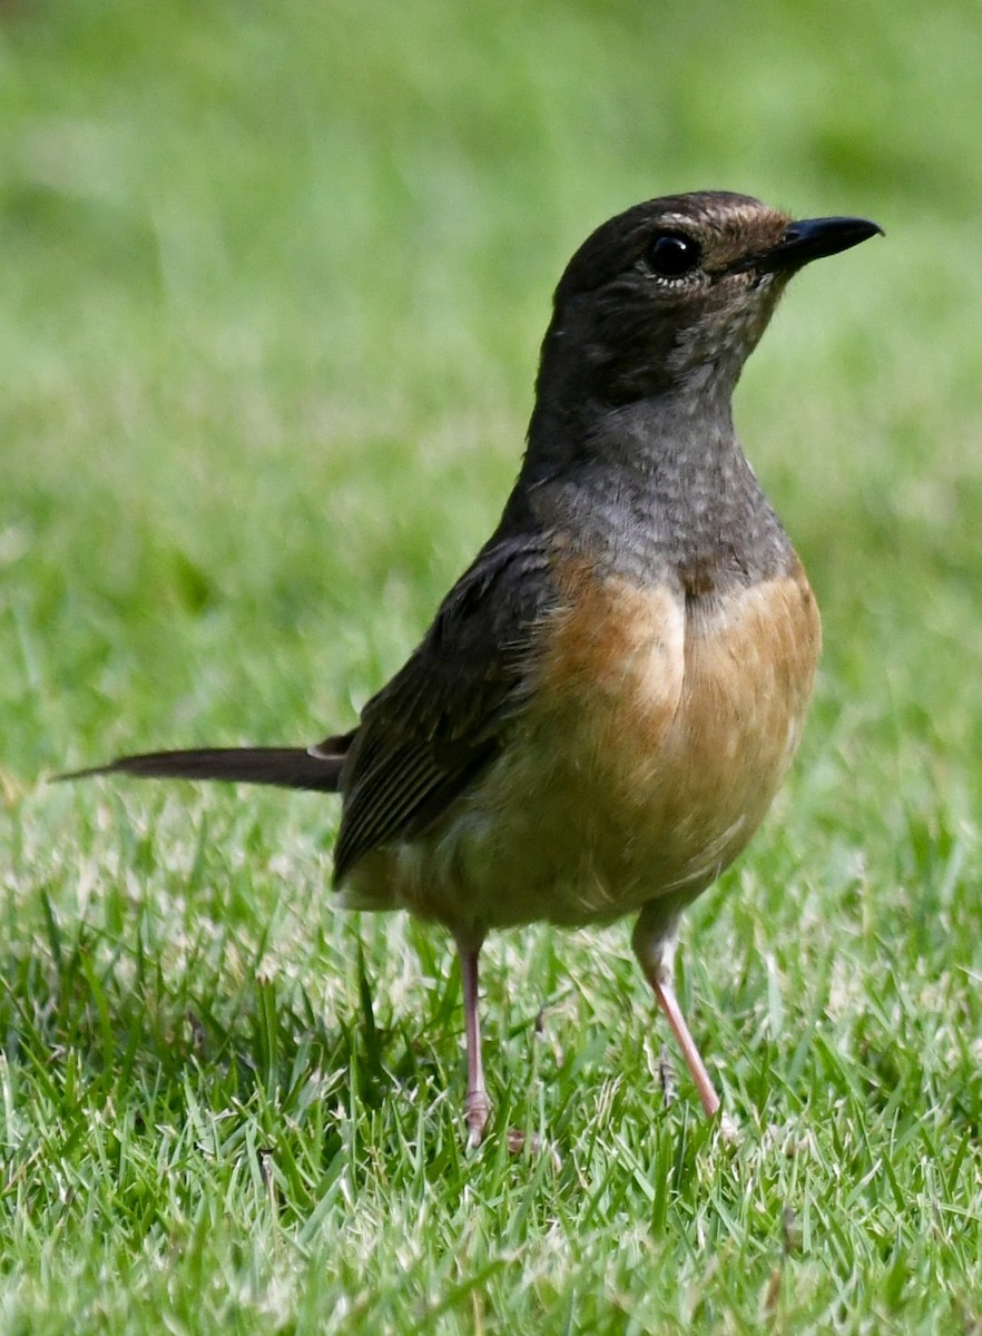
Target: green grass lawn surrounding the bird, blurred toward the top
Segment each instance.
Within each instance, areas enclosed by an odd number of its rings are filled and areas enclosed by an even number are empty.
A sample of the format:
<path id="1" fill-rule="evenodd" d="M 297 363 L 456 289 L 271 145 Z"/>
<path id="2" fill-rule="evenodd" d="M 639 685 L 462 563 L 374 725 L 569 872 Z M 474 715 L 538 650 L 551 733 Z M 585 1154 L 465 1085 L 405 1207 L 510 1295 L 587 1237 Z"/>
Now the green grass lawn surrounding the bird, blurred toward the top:
<path id="1" fill-rule="evenodd" d="M 967 0 L 4 7 L 4 1331 L 982 1329 L 978 81 Z M 349 725 L 569 253 L 699 186 L 887 230 L 738 398 L 827 640 L 683 942 L 743 1137 L 621 925 L 489 943 L 468 1153 L 452 951 L 333 911 L 333 802 L 40 778 Z"/>

